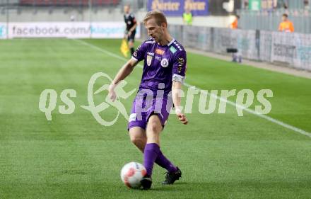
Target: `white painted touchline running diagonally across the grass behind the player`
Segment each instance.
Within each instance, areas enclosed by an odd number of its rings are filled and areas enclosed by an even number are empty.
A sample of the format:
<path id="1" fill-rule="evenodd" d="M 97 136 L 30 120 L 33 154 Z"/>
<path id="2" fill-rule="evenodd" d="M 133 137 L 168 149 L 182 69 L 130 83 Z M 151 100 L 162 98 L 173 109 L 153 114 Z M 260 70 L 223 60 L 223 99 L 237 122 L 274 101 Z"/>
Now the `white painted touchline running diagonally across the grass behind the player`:
<path id="1" fill-rule="evenodd" d="M 115 57 L 115 58 L 117 58 L 117 59 L 121 59 L 121 60 L 124 60 L 124 61 L 127 61 L 127 60 L 128 60 L 128 59 L 126 59 L 126 58 L 124 58 L 124 57 L 121 57 L 121 56 L 119 56 L 119 55 L 117 55 L 117 54 L 115 54 L 115 53 L 112 53 L 112 52 L 110 52 L 110 51 L 107 51 L 107 50 L 105 50 L 105 49 L 102 49 L 101 47 L 95 46 L 95 45 L 90 44 L 90 43 L 88 43 L 88 42 L 85 42 L 85 41 L 83 41 L 83 40 L 76 40 L 76 39 L 73 39 L 73 40 L 75 40 L 76 42 L 80 42 L 80 43 L 83 44 L 83 45 L 87 45 L 87 46 L 89 46 L 89 47 L 91 47 L 91 48 L 93 48 L 93 49 L 95 49 L 95 50 L 100 51 L 100 52 L 104 52 L 104 53 L 106 53 L 107 55 L 110 55 L 110 56 Z M 143 68 L 143 66 L 142 66 L 141 64 L 137 64 L 137 65 L 138 65 L 139 67 Z M 196 89 L 199 90 L 199 91 L 203 91 L 203 89 L 200 89 L 200 88 L 198 88 L 198 87 L 196 87 L 196 86 L 192 86 L 192 85 L 187 84 L 187 83 L 184 83 L 184 86 L 187 86 L 187 87 L 194 87 L 194 88 L 196 88 Z M 219 99 L 220 101 L 225 101 L 225 102 L 227 102 L 228 104 L 230 104 L 231 106 L 235 106 L 235 107 L 238 107 L 238 108 L 242 108 L 243 110 L 245 110 L 245 111 L 248 112 L 248 113 L 251 113 L 251 114 L 253 114 L 253 115 L 257 115 L 259 118 L 263 118 L 263 119 L 265 119 L 265 120 L 269 120 L 271 123 L 275 123 L 276 125 L 280 125 L 280 126 L 282 126 L 282 127 L 286 127 L 286 128 L 289 129 L 289 130 L 293 130 L 293 131 L 299 132 L 300 134 L 305 135 L 305 136 L 307 136 L 307 137 L 311 137 L 311 132 L 307 132 L 307 131 L 305 131 L 305 130 L 302 130 L 302 129 L 298 128 L 298 127 L 294 127 L 294 126 L 292 126 L 292 125 L 288 125 L 288 124 L 286 124 L 286 123 L 281 122 L 280 120 L 276 120 L 276 119 L 274 119 L 274 118 L 271 118 L 271 117 L 269 117 L 268 115 L 261 115 L 261 114 L 257 113 L 256 111 L 254 111 L 254 110 L 252 110 L 252 109 L 250 109 L 250 108 L 245 108 L 245 107 L 243 107 L 243 106 L 241 106 L 241 105 L 239 105 L 239 104 L 237 104 L 237 103 L 234 103 L 233 101 L 228 101 L 228 100 L 226 100 L 225 98 L 221 98 L 221 97 L 219 97 L 219 96 L 216 96 L 216 95 L 213 95 L 213 94 L 210 94 L 210 93 L 208 93 L 208 95 L 211 96 L 211 97 L 213 97 L 213 98 L 217 98 L 217 99 Z"/>

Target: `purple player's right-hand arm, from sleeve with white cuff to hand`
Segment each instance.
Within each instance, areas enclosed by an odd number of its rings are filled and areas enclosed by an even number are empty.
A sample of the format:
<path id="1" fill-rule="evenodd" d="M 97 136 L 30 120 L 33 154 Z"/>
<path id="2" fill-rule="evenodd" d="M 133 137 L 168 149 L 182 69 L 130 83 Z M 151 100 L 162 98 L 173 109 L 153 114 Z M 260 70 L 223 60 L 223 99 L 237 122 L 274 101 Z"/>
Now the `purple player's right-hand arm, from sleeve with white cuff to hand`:
<path id="1" fill-rule="evenodd" d="M 175 106 L 175 113 L 184 125 L 187 125 L 188 120 L 186 115 L 182 113 L 181 108 L 181 92 L 182 92 L 182 83 L 184 81 L 184 76 L 186 74 L 187 56 L 184 50 L 177 52 L 175 56 L 175 62 L 172 68 L 172 102 Z"/>

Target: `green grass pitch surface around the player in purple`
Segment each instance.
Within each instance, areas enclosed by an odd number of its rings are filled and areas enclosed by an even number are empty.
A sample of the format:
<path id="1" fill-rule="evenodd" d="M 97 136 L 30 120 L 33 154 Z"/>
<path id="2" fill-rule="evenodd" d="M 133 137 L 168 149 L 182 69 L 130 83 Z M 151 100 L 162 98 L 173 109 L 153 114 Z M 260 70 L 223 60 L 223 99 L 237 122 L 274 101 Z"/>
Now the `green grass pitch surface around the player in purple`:
<path id="1" fill-rule="evenodd" d="M 122 56 L 120 40 L 83 42 L 0 41 L 0 198 L 311 198 L 311 137 L 247 112 L 238 117 L 230 105 L 225 114 L 202 115 L 197 98 L 187 115 L 189 125 L 170 115 L 161 135 L 161 149 L 180 166 L 182 179 L 161 186 L 165 171 L 155 166 L 152 190 L 126 188 L 120 169 L 129 161 L 142 162 L 129 142 L 127 121 L 121 116 L 103 127 L 80 107 L 88 104 L 90 76 L 113 77 L 124 64 L 90 45 Z M 311 132 L 311 79 L 192 53 L 187 65 L 187 84 L 201 89 L 271 89 L 269 117 Z M 140 79 L 136 67 L 125 89 L 137 88 Z M 74 113 L 60 114 L 64 103 L 57 98 L 47 121 L 38 108 L 45 89 L 55 89 L 58 96 L 64 89 L 76 90 Z M 104 97 L 98 94 L 95 101 Z M 127 110 L 133 98 L 122 101 Z M 116 110 L 100 114 L 110 120 Z"/>

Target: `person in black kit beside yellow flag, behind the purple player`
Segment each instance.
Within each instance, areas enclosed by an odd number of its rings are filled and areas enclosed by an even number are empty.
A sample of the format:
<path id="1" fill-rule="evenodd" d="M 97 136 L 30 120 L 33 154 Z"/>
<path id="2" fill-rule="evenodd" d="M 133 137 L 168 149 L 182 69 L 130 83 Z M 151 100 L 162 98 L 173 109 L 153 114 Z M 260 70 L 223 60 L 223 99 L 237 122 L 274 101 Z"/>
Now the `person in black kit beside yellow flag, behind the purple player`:
<path id="1" fill-rule="evenodd" d="M 127 25 L 126 35 L 127 41 L 129 42 L 129 49 L 131 50 L 131 55 L 134 53 L 134 41 L 136 34 L 136 18 L 133 13 L 129 13 L 129 5 L 124 6 L 124 22 Z"/>

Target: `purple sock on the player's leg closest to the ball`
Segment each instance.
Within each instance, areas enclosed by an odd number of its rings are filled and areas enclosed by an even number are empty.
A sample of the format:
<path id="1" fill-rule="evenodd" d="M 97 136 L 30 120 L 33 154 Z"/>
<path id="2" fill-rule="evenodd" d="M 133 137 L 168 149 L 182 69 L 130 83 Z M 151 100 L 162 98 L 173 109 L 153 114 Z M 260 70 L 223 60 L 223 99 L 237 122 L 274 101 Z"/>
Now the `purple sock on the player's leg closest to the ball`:
<path id="1" fill-rule="evenodd" d="M 146 167 L 148 176 L 152 175 L 153 164 L 158 157 L 159 152 L 160 147 L 156 143 L 146 144 L 146 147 L 143 150 L 143 166 Z"/>

